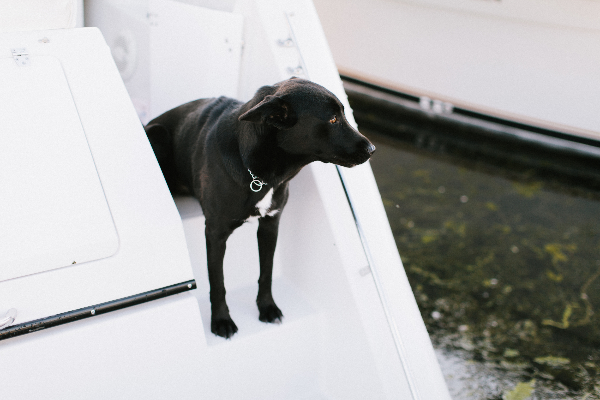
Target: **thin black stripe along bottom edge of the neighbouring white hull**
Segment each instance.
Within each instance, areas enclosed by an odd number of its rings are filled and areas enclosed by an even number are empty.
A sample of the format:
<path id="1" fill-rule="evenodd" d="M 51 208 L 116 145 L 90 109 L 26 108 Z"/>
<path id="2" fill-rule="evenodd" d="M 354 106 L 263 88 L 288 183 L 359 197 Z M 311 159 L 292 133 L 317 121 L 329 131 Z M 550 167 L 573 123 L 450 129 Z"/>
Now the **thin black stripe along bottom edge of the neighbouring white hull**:
<path id="1" fill-rule="evenodd" d="M 419 98 L 414 95 L 410 95 L 407 93 L 398 92 L 398 91 L 395 91 L 392 89 L 384 88 L 383 86 L 364 82 L 363 80 L 360 80 L 360 79 L 352 78 L 352 77 L 349 77 L 346 75 L 340 75 L 340 78 L 342 80 L 346 80 L 347 82 L 356 83 L 356 85 L 361 85 L 361 86 L 364 86 L 365 88 L 374 89 L 376 91 L 391 94 L 391 95 L 394 95 L 394 96 L 397 96 L 400 98 L 404 98 L 406 100 L 411 100 L 411 101 L 416 101 L 416 102 L 419 101 Z M 494 122 L 499 125 L 505 125 L 506 127 L 518 128 L 518 129 L 521 129 L 524 131 L 539 133 L 539 134 L 543 134 L 546 136 L 556 137 L 557 139 L 569 140 L 571 142 L 581 143 L 583 145 L 594 146 L 594 147 L 600 148 L 599 140 L 594 140 L 594 139 L 590 139 L 587 137 L 581 137 L 581 136 L 576 136 L 573 134 L 564 133 L 564 132 L 560 132 L 560 131 L 553 131 L 553 130 L 546 129 L 546 128 L 535 127 L 534 125 L 521 124 L 521 122 L 511 121 L 509 119 L 498 118 L 498 117 L 494 117 L 491 115 L 478 113 L 478 112 L 475 112 L 472 110 L 463 109 L 461 107 L 454 107 L 454 110 L 452 110 L 452 112 L 454 112 L 456 114 L 464 115 L 464 116 L 469 116 L 472 118 L 478 118 L 483 121 Z"/>

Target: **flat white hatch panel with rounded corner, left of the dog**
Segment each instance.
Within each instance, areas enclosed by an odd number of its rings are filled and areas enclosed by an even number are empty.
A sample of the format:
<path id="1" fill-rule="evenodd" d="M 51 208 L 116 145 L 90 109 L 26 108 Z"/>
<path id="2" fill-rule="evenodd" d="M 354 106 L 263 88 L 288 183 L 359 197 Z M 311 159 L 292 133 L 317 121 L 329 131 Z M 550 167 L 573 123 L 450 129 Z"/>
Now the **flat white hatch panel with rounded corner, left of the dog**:
<path id="1" fill-rule="evenodd" d="M 115 225 L 59 60 L 0 59 L 0 76 L 0 281 L 115 254 Z"/>

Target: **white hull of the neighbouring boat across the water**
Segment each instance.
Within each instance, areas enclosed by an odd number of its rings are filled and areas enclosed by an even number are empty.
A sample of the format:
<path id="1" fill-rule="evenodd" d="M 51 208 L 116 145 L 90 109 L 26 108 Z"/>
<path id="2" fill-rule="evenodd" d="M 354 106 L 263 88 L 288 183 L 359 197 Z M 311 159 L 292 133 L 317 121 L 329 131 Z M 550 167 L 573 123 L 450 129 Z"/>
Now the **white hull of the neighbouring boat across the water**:
<path id="1" fill-rule="evenodd" d="M 314 3 L 345 76 L 600 140 L 600 1 Z"/>

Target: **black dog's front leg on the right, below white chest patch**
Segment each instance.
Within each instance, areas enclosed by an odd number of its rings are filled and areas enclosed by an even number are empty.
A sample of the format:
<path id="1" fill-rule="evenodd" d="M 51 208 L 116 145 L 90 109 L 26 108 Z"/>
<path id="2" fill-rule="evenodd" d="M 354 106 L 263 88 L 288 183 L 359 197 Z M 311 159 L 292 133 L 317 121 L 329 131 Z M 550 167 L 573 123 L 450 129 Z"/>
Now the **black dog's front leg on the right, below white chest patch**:
<path id="1" fill-rule="evenodd" d="M 271 294 L 273 255 L 277 245 L 279 217 L 280 214 L 260 218 L 256 233 L 260 257 L 259 294 L 256 297 L 256 305 L 259 307 L 259 320 L 263 322 L 280 322 L 283 317 Z"/>

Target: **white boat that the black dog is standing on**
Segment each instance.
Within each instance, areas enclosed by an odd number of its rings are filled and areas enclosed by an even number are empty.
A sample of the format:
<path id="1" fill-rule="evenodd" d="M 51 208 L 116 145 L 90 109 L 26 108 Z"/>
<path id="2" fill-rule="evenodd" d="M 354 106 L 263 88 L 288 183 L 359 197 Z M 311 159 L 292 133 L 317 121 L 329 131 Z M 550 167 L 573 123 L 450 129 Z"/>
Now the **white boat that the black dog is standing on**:
<path id="1" fill-rule="evenodd" d="M 257 224 L 235 231 L 239 331 L 210 332 L 202 210 L 173 201 L 138 116 L 295 75 L 353 121 L 310 1 L 86 2 L 100 29 L 73 29 L 75 1 L 1 5 L 3 398 L 449 399 L 368 163 L 290 183 L 283 323 L 258 320 Z"/>

